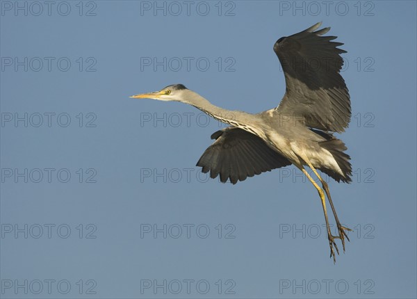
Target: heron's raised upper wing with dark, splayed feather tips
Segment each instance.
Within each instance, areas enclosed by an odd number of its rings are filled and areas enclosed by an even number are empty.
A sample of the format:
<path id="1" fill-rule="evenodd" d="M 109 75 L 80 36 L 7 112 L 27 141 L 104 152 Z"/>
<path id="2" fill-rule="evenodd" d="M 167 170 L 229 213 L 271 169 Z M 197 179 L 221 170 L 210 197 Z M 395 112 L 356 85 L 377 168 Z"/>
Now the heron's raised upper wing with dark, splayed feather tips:
<path id="1" fill-rule="evenodd" d="M 277 107 L 304 120 L 307 127 L 343 132 L 350 122 L 350 96 L 340 70 L 345 50 L 332 42 L 336 36 L 321 36 L 330 28 L 309 29 L 280 38 L 274 51 L 282 65 L 286 93 Z"/>

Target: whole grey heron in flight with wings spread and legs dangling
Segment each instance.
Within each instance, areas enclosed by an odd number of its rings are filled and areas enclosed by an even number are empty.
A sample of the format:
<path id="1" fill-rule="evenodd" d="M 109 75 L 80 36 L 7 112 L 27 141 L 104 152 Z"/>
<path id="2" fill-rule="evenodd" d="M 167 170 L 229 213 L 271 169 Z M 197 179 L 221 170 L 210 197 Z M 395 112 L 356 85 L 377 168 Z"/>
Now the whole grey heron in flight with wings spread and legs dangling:
<path id="1" fill-rule="evenodd" d="M 284 70 L 286 92 L 279 106 L 261 113 L 229 111 L 208 102 L 182 84 L 174 84 L 160 91 L 133 95 L 133 98 L 177 101 L 190 104 L 212 118 L 231 127 L 216 131 L 215 139 L 197 162 L 202 172 L 212 178 L 220 175 L 223 183 L 232 184 L 261 172 L 294 164 L 311 181 L 320 195 L 325 214 L 330 257 L 336 262 L 335 239 L 340 239 L 345 252 L 346 231 L 338 220 L 329 187 L 317 170 L 336 181 L 352 181 L 350 156 L 344 153 L 345 144 L 333 136 L 341 133 L 350 122 L 350 96 L 340 70 L 346 53 L 333 42 L 336 36 L 322 36 L 330 28 L 320 29 L 321 22 L 294 35 L 279 38 L 274 45 L 275 54 Z M 304 166 L 313 170 L 313 179 Z M 326 200 L 338 227 L 333 236 L 327 218 Z"/>

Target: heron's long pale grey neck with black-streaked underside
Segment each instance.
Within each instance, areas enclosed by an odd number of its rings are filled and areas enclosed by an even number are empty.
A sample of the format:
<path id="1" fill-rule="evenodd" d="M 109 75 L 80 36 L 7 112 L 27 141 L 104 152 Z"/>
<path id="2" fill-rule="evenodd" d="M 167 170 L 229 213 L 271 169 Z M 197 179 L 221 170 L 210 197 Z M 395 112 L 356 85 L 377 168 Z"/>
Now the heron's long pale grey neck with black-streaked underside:
<path id="1" fill-rule="evenodd" d="M 256 115 L 251 113 L 227 110 L 215 106 L 196 92 L 193 92 L 192 97 L 188 97 L 186 103 L 195 106 L 195 108 L 210 115 L 215 120 L 219 120 L 220 122 L 224 122 L 241 129 L 246 129 L 248 131 L 252 131 L 251 128 L 256 126 L 256 122 L 258 120 Z M 252 131 L 252 133 L 254 132 Z"/>

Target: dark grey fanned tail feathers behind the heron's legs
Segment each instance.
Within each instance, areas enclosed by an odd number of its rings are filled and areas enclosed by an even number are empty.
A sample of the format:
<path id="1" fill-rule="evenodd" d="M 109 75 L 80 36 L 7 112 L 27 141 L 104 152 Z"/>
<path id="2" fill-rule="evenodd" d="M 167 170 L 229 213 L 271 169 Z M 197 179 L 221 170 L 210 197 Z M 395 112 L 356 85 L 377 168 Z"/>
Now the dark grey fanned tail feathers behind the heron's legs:
<path id="1" fill-rule="evenodd" d="M 350 156 L 345 154 L 344 151 L 347 149 L 345 143 L 342 140 L 337 138 L 332 138 L 330 140 L 325 140 L 319 143 L 320 146 L 324 149 L 327 149 L 330 154 L 336 160 L 336 163 L 341 168 L 343 175 L 338 172 L 335 172 L 332 169 L 328 168 L 319 168 L 322 172 L 325 172 L 326 175 L 332 177 L 336 181 L 343 181 L 345 183 L 350 183 L 352 181 L 352 165 L 350 165 Z"/>

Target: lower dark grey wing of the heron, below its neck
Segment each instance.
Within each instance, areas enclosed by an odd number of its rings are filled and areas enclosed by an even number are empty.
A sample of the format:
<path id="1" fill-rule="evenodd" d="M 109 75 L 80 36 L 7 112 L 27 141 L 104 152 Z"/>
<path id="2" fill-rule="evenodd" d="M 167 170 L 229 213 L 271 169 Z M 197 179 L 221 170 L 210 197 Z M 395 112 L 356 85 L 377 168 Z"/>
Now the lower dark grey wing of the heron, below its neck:
<path id="1" fill-rule="evenodd" d="M 204 151 L 197 166 L 204 173 L 210 171 L 213 179 L 220 174 L 222 183 L 230 179 L 236 184 L 261 172 L 291 165 L 261 138 L 243 129 L 227 127 L 216 131 L 211 139 L 215 142 Z"/>

